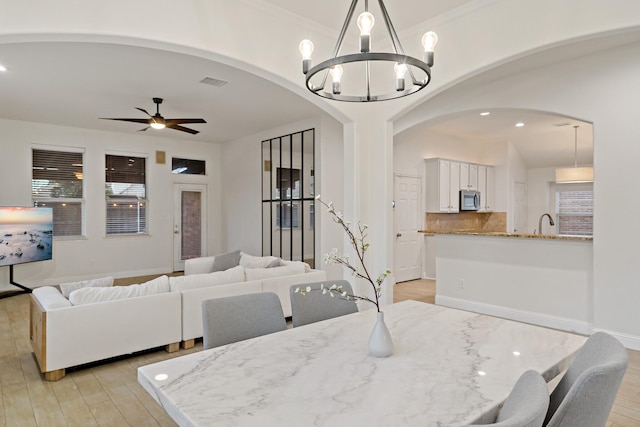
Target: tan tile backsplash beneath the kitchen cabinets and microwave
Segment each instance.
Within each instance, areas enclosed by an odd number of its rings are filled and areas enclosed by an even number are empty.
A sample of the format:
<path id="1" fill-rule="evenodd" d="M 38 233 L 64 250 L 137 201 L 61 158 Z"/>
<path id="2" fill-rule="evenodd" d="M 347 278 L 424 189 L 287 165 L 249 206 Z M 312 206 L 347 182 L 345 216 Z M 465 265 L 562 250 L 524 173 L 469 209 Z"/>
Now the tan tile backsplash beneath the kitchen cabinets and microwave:
<path id="1" fill-rule="evenodd" d="M 426 231 L 506 232 L 506 212 L 427 213 Z"/>

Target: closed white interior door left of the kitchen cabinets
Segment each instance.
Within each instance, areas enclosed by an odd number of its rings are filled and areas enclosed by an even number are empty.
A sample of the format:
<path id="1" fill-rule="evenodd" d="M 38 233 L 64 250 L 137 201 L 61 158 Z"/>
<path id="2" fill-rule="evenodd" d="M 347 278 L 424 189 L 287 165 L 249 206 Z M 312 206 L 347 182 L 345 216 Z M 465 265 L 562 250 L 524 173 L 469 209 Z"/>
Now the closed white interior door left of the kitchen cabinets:
<path id="1" fill-rule="evenodd" d="M 422 179 L 416 176 L 396 175 L 394 184 L 394 247 L 393 275 L 396 282 L 420 278 L 422 267 L 423 212 L 420 197 Z"/>

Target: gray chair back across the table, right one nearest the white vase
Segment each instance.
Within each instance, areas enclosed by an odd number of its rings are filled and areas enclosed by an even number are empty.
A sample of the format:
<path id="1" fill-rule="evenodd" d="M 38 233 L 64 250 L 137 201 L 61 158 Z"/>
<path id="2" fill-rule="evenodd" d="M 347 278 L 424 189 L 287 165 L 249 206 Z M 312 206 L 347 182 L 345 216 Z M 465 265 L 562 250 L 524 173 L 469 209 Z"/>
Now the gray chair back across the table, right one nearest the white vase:
<path id="1" fill-rule="evenodd" d="M 293 327 L 307 325 L 309 323 L 320 322 L 321 320 L 333 317 L 344 316 L 345 314 L 356 313 L 358 306 L 351 300 L 347 301 L 339 296 L 323 295 L 320 286 L 325 288 L 333 285 L 342 287 L 343 292 L 353 295 L 353 289 L 346 280 L 328 280 L 324 282 L 306 283 L 293 285 L 289 288 L 291 298 L 291 322 Z M 306 289 L 311 287 L 312 291 L 302 295 L 296 292 L 296 288 Z"/>

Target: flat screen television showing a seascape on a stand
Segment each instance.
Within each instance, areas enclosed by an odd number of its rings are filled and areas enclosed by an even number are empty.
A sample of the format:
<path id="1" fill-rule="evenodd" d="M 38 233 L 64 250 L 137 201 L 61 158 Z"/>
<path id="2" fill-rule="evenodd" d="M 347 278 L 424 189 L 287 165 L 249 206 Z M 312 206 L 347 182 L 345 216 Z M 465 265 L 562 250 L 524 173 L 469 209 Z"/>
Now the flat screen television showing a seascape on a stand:
<path id="1" fill-rule="evenodd" d="M 53 257 L 53 209 L 0 207 L 0 267 Z"/>

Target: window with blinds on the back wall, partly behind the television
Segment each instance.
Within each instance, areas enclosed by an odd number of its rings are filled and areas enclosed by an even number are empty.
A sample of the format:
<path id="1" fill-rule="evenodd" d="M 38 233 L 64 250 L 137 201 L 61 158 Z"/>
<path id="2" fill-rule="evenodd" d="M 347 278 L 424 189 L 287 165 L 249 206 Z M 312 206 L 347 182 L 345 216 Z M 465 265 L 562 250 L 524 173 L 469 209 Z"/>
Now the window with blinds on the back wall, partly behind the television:
<path id="1" fill-rule="evenodd" d="M 84 235 L 83 153 L 33 149 L 34 206 L 53 208 L 53 234 Z"/>

